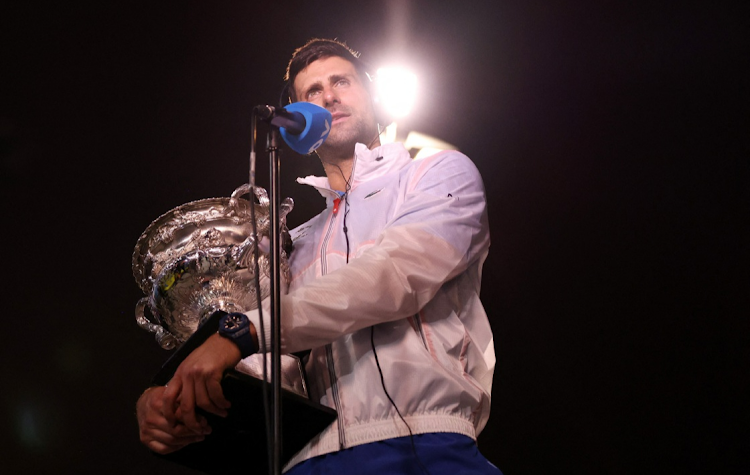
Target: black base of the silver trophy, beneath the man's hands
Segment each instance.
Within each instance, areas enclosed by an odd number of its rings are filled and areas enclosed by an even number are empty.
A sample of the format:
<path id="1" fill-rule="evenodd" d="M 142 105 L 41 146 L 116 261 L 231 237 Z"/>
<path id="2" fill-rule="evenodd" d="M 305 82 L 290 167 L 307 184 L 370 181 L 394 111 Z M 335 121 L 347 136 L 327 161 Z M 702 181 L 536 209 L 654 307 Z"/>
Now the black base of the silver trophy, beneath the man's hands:
<path id="1" fill-rule="evenodd" d="M 182 360 L 216 332 L 220 314 L 212 315 L 162 366 L 154 384 L 166 384 Z M 268 440 L 263 392 L 270 384 L 234 369 L 221 382 L 224 396 L 232 403 L 226 418 L 200 411 L 212 428 L 203 442 L 177 452 L 158 455 L 171 462 L 208 474 L 268 472 Z M 313 437 L 336 420 L 336 411 L 292 391 L 281 392 L 282 466 Z"/>

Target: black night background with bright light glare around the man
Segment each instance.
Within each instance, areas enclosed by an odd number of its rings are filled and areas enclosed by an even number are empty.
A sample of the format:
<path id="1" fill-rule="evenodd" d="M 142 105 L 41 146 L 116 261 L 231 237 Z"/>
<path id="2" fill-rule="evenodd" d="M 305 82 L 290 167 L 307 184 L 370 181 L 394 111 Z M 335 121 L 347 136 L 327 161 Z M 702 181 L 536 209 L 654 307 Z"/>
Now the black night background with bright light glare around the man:
<path id="1" fill-rule="evenodd" d="M 135 324 L 132 249 L 163 212 L 246 181 L 250 110 L 318 36 L 375 64 L 403 55 L 422 90 L 405 127 L 483 174 L 487 457 L 506 475 L 748 473 L 749 17 L 706 2 L 4 3 L 0 470 L 190 473 L 138 442 L 134 404 L 167 354 Z M 291 224 L 323 206 L 293 178 L 320 171 L 285 154 Z"/>

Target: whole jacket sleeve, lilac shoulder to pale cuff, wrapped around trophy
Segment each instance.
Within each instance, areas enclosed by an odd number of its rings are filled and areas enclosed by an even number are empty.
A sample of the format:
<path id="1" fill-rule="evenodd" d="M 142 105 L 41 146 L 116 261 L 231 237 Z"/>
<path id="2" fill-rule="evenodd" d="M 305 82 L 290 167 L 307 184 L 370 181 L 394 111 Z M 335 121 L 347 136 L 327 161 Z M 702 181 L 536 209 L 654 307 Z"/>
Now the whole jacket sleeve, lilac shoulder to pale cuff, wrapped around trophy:
<path id="1" fill-rule="evenodd" d="M 284 352 L 414 315 L 445 282 L 486 257 L 486 200 L 476 167 L 458 152 L 425 160 L 409 176 L 393 219 L 372 247 L 281 297 Z M 258 328 L 257 311 L 248 316 Z M 265 340 L 270 347 L 270 336 Z"/>

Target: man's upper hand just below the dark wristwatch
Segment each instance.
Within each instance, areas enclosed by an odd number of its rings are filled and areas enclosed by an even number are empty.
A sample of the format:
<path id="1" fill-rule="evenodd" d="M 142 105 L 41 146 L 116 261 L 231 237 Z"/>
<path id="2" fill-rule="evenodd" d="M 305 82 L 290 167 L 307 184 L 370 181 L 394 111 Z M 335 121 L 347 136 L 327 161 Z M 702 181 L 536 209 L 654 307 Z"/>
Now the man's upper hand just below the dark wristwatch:
<path id="1" fill-rule="evenodd" d="M 175 371 L 163 394 L 163 414 L 175 425 L 182 422 L 195 433 L 202 425 L 195 408 L 226 417 L 231 406 L 221 390 L 224 371 L 240 362 L 240 350 L 231 340 L 211 335 Z"/>

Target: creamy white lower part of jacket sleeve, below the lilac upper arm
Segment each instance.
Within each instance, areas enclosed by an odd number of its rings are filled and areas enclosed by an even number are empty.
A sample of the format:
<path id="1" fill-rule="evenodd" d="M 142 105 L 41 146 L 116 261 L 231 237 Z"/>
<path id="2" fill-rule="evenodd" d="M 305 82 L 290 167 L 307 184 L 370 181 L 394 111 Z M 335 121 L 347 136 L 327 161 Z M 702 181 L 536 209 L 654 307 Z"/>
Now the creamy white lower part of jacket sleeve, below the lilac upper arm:
<path id="1" fill-rule="evenodd" d="M 282 297 L 282 349 L 315 348 L 414 315 L 465 267 L 463 253 L 430 233 L 389 230 L 346 267 Z"/>

